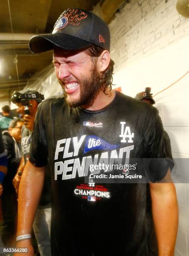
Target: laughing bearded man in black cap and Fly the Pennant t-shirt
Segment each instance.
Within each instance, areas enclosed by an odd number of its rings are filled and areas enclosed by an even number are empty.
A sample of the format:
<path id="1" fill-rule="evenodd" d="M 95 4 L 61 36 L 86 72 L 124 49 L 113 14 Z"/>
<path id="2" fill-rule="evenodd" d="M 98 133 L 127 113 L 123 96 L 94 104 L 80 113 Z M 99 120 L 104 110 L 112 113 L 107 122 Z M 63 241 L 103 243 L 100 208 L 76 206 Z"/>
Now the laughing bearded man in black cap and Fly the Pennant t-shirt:
<path id="1" fill-rule="evenodd" d="M 127 163 L 122 172 L 128 172 L 131 164 L 137 169 L 138 159 L 139 171 L 147 169 L 150 180 L 167 179 L 169 161 L 157 110 L 111 90 L 109 29 L 89 11 L 64 11 L 53 33 L 33 37 L 30 49 L 54 49 L 64 96 L 45 100 L 37 110 L 19 189 L 17 246 L 29 248 L 32 255 L 30 232 L 48 162 L 53 256 L 148 256 L 146 184 L 95 183 L 91 174 L 116 174 L 119 170 L 110 168 L 115 163 Z M 156 172 L 151 172 L 154 164 Z M 175 188 L 152 182 L 150 188 L 159 256 L 172 256 L 178 225 Z"/>

